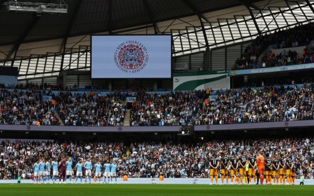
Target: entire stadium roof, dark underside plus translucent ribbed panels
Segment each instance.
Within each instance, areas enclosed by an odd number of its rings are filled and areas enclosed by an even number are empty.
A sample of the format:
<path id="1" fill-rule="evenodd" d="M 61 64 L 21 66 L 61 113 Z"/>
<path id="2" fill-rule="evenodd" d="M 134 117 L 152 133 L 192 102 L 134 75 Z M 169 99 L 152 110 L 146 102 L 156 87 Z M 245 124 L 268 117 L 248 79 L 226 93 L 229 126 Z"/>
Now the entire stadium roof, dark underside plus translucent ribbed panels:
<path id="1" fill-rule="evenodd" d="M 0 65 L 18 67 L 19 80 L 90 70 L 90 34 L 171 34 L 173 56 L 186 62 L 185 55 L 247 44 L 259 35 L 314 21 L 314 0 L 64 1 L 68 14 L 40 18 L 1 6 Z M 229 69 L 234 60 L 227 62 Z"/>

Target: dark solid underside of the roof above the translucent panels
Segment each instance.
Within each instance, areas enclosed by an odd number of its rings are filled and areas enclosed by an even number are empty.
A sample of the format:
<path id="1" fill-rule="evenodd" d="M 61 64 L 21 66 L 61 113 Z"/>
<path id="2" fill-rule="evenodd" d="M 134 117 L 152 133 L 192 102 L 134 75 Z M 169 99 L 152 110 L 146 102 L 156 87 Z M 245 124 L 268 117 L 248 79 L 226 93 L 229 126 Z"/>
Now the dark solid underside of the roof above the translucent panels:
<path id="1" fill-rule="evenodd" d="M 162 22 L 261 0 L 64 0 L 68 14 L 9 12 L 0 0 L 0 45 L 35 42 L 113 31 Z M 23 1 L 23 0 L 22 0 Z M 25 0 L 57 3 L 55 0 Z M 206 22 L 206 21 L 204 21 Z"/>

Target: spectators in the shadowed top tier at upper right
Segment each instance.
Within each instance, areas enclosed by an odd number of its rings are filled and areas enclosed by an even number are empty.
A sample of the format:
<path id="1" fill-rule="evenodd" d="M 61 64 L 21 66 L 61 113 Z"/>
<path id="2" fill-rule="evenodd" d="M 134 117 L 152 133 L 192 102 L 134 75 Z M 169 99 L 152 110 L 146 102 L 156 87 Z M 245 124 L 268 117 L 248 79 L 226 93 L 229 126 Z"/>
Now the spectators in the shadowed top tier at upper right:
<path id="1" fill-rule="evenodd" d="M 258 57 L 272 43 L 276 43 L 278 48 L 288 48 L 302 46 L 310 43 L 313 38 L 314 23 L 296 25 L 286 30 L 275 31 L 272 34 L 258 36 L 255 41 L 248 45 L 241 57 L 235 61 L 232 69 L 252 69 L 271 66 L 299 65 L 308 63 L 313 56 L 298 56 L 296 51 L 284 51 L 275 55 L 273 52 L 265 54 L 261 62 L 257 62 Z M 312 59 L 311 59 L 312 61 Z"/>

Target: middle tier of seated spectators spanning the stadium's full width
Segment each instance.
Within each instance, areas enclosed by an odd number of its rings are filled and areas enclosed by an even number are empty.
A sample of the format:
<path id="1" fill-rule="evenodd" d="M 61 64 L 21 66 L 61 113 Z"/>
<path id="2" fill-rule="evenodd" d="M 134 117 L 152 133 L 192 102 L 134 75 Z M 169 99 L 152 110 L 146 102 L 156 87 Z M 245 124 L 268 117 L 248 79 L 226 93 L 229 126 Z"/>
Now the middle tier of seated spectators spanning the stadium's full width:
<path id="1" fill-rule="evenodd" d="M 130 126 L 219 125 L 312 120 L 314 116 L 312 79 L 304 78 L 299 82 L 309 81 L 311 83 L 298 85 L 299 87 L 294 80 L 289 79 L 288 83 L 291 86 L 269 85 L 262 81 L 261 88 L 171 91 L 165 94 L 147 93 L 145 89 L 138 89 L 133 93 L 140 101 L 131 106 Z M 29 96 L 32 93 L 34 97 Z M 23 92 L 15 89 L 10 92 L 3 89 L 2 94 L 0 124 L 60 125 L 54 113 L 55 109 L 66 126 L 123 126 L 126 112 L 125 100 L 128 96 L 128 93 L 122 91 L 102 96 L 100 92 L 93 90 L 89 93 L 60 91 L 55 95 L 51 90 Z M 56 100 L 55 106 L 52 102 L 44 100 L 42 94 L 51 95 Z M 210 101 L 209 94 L 219 96 L 216 100 Z M 32 104 L 35 107 L 31 107 Z"/>

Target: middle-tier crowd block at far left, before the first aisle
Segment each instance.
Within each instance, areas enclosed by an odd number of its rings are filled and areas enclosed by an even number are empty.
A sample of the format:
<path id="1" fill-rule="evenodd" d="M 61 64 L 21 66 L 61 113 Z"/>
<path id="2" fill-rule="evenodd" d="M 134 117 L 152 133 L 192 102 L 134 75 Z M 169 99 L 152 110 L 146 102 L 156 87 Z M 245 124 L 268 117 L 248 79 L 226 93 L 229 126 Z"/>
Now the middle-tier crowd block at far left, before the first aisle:
<path id="1" fill-rule="evenodd" d="M 52 103 L 36 90 L 1 89 L 0 124 L 60 125 Z"/>

